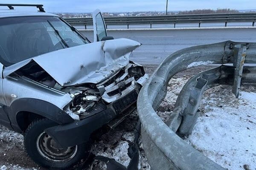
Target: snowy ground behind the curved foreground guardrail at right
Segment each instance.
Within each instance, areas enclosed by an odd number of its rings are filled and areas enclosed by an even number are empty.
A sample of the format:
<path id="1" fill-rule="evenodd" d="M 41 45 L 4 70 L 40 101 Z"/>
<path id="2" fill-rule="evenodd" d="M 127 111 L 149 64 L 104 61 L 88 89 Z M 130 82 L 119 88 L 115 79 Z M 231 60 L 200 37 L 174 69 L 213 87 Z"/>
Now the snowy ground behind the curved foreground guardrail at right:
<path id="1" fill-rule="evenodd" d="M 157 114 L 166 121 L 187 77 L 171 79 Z M 256 87 L 241 86 L 239 99 L 232 87 L 205 92 L 201 114 L 186 142 L 228 170 L 256 170 Z"/>

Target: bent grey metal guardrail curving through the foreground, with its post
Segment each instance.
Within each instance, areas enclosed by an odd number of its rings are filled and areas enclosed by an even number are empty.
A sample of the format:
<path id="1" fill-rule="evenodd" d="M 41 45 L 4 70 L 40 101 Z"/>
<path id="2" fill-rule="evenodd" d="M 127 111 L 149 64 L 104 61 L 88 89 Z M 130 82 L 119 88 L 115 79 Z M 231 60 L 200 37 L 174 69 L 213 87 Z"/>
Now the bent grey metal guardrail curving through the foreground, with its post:
<path id="1" fill-rule="evenodd" d="M 221 65 L 189 79 L 167 123 L 157 116 L 156 110 L 175 74 L 197 65 L 227 63 L 233 66 Z M 191 133 L 206 89 L 219 84 L 233 85 L 233 92 L 238 96 L 241 82 L 256 82 L 256 67 L 244 67 L 244 63 L 256 63 L 256 43 L 226 41 L 199 45 L 177 51 L 161 62 L 137 100 L 143 147 L 152 170 L 225 170 L 180 136 Z"/>

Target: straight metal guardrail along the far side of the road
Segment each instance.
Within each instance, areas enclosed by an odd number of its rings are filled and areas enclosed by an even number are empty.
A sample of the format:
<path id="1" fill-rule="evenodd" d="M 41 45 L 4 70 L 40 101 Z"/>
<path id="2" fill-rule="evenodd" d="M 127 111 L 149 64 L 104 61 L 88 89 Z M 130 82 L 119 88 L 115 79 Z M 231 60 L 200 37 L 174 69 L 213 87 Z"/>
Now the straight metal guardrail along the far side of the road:
<path id="1" fill-rule="evenodd" d="M 92 18 L 65 18 L 65 20 L 73 26 L 87 26 L 93 25 Z M 149 24 L 152 28 L 153 24 L 174 24 L 177 23 L 227 23 L 230 22 L 252 22 L 255 25 L 256 13 L 243 14 L 194 14 L 194 15 L 167 15 L 167 16 L 147 16 L 147 17 L 106 17 L 105 23 L 108 25 L 129 25 L 133 24 Z"/>

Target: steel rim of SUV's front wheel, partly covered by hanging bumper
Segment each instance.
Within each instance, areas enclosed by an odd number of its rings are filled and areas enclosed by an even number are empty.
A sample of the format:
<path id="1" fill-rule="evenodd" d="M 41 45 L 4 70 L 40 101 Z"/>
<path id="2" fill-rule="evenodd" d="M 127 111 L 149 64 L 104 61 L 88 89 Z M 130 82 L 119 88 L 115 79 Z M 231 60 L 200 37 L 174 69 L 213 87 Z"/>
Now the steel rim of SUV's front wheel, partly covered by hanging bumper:
<path id="1" fill-rule="evenodd" d="M 40 155 L 49 161 L 68 161 L 77 153 L 77 145 L 63 148 L 46 132 L 43 132 L 38 136 L 36 144 Z"/>

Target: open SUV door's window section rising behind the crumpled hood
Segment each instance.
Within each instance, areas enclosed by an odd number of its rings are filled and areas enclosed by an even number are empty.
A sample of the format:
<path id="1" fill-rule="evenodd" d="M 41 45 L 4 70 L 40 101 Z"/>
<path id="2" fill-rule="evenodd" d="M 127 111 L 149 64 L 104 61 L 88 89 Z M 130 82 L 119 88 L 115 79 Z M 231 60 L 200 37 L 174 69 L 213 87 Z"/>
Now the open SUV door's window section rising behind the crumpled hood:
<path id="1" fill-rule="evenodd" d="M 107 37 L 107 29 L 99 9 L 93 12 L 93 39 L 94 42 L 101 41 L 103 37 Z"/>

